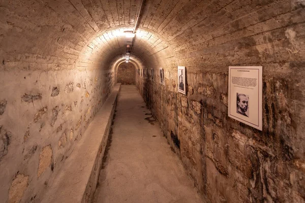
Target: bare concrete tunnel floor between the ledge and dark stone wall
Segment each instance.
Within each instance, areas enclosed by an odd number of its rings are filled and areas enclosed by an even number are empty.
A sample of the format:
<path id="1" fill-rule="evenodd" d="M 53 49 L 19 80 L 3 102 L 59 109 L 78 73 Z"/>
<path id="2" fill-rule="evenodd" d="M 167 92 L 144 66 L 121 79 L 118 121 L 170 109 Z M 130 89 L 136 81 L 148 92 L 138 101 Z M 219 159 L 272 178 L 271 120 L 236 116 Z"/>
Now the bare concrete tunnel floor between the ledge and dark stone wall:
<path id="1" fill-rule="evenodd" d="M 204 202 L 149 114 L 136 86 L 122 85 L 93 202 Z"/>

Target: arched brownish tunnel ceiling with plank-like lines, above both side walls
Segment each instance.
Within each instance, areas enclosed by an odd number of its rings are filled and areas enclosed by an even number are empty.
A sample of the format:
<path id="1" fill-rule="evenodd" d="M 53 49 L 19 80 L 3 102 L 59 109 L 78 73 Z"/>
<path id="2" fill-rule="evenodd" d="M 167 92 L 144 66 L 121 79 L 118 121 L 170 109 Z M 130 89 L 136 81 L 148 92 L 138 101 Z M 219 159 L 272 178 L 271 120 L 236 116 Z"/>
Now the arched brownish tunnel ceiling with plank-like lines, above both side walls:
<path id="1" fill-rule="evenodd" d="M 6 66 L 1 69 L 110 69 L 126 52 L 126 43 L 117 33 L 134 28 L 141 3 L 2 0 L 0 59 Z M 281 21 L 286 15 L 291 20 Z M 282 47 L 285 39 L 279 42 L 263 35 L 273 30 L 283 33 L 282 27 L 299 23 L 303 15 L 301 8 L 281 0 L 146 0 L 131 58 L 146 67 L 185 65 L 189 71 L 203 66 L 205 71 L 225 70 L 227 64 L 285 63 L 303 50 L 294 56 L 286 50 L 288 58 L 283 58 L 277 54 L 282 50 L 275 47 Z M 270 53 L 269 43 L 273 44 Z"/>

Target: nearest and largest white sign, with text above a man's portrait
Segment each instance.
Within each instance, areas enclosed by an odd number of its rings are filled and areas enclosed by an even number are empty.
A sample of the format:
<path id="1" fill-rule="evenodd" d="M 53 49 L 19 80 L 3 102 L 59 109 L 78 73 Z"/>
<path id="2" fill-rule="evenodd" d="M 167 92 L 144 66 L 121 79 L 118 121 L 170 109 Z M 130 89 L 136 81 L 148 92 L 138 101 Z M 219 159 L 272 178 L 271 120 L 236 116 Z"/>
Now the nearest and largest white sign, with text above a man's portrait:
<path id="1" fill-rule="evenodd" d="M 262 66 L 229 66 L 228 115 L 262 130 Z"/>

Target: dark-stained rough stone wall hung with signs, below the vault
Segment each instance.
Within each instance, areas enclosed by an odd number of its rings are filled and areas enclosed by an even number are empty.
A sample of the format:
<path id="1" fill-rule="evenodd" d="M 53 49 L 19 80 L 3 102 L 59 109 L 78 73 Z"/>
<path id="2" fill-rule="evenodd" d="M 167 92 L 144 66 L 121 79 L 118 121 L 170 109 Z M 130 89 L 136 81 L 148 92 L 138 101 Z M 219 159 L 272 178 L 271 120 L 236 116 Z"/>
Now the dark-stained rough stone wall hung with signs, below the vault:
<path id="1" fill-rule="evenodd" d="M 215 203 L 305 201 L 305 117 L 288 105 L 304 98 L 289 79 L 294 74 L 264 76 L 263 131 L 227 116 L 228 73 L 188 73 L 186 96 L 177 93 L 176 76 L 165 72 L 165 86 L 137 78 L 137 86 L 204 196 Z"/>

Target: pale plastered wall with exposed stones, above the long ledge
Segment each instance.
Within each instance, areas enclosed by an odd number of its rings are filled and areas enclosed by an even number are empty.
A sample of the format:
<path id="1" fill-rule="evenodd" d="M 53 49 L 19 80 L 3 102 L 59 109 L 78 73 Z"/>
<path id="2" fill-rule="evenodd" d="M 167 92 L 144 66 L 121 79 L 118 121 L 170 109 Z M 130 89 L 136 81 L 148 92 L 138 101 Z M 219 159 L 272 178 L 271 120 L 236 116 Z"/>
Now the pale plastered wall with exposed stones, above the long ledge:
<path id="1" fill-rule="evenodd" d="M 110 70 L 0 72 L 0 196 L 35 202 L 114 85 Z"/>

